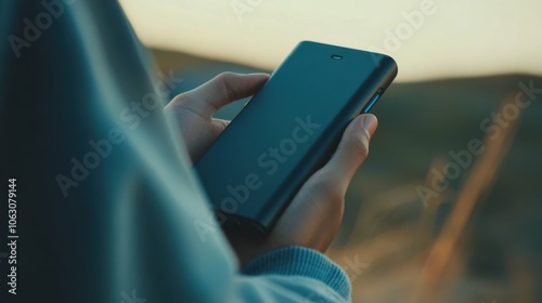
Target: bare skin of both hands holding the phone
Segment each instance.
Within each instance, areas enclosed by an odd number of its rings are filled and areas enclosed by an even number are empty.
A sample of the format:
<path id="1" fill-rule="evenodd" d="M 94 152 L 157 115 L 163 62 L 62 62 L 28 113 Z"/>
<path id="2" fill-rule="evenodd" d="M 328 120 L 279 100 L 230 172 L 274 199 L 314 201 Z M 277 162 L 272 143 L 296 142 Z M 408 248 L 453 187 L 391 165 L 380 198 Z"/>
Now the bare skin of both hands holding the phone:
<path id="1" fill-rule="evenodd" d="M 214 119 L 222 106 L 254 95 L 268 80 L 267 74 L 223 73 L 203 85 L 177 95 L 165 108 L 177 117 L 189 155 L 195 162 L 224 130 L 229 121 Z M 302 246 L 325 252 L 343 221 L 348 185 L 369 155 L 376 117 L 353 119 L 332 159 L 301 187 L 264 239 L 227 235 L 241 266 L 271 250 Z"/>

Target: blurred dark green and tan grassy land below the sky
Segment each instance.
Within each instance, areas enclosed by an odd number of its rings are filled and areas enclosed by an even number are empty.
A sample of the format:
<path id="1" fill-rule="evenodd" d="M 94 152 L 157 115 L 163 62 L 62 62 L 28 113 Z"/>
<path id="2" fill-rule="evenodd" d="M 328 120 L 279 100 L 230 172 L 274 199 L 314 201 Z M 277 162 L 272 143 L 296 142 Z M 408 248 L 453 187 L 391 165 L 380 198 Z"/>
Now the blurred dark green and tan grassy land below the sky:
<path id="1" fill-rule="evenodd" d="M 183 78 L 172 95 L 224 70 L 260 71 L 153 52 L 164 73 Z M 519 83 L 531 81 L 542 89 L 542 78 L 528 75 L 388 89 L 328 251 L 352 280 L 353 302 L 542 302 L 542 93 L 525 109 L 515 105 Z M 244 103 L 217 116 L 231 119 Z M 493 113 L 504 117 L 496 124 Z M 463 168 L 450 152 L 467 150 L 472 140 L 485 150 Z M 447 166 L 453 177 L 435 177 Z M 420 186 L 443 190 L 425 199 Z"/>

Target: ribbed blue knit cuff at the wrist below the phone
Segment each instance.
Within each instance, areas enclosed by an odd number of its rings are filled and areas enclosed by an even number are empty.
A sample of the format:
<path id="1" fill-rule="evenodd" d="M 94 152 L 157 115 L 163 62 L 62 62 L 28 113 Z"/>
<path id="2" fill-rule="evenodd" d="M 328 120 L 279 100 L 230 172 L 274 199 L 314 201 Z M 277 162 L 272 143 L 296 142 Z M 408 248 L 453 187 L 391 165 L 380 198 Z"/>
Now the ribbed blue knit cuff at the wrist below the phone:
<path id="1" fill-rule="evenodd" d="M 319 251 L 304 247 L 285 247 L 268 252 L 243 268 L 245 275 L 288 275 L 320 280 L 345 300 L 351 286 L 345 271 Z"/>

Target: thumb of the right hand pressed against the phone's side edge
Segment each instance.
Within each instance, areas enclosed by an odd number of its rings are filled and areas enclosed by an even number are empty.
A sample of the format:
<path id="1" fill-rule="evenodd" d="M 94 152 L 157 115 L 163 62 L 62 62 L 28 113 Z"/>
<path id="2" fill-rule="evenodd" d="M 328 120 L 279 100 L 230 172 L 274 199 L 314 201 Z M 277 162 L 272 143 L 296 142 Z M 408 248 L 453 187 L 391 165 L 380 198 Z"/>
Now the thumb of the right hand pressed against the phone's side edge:
<path id="1" fill-rule="evenodd" d="M 346 128 L 337 150 L 324 169 L 346 188 L 356 171 L 369 156 L 369 142 L 376 131 L 376 117 L 366 114 L 356 117 Z"/>

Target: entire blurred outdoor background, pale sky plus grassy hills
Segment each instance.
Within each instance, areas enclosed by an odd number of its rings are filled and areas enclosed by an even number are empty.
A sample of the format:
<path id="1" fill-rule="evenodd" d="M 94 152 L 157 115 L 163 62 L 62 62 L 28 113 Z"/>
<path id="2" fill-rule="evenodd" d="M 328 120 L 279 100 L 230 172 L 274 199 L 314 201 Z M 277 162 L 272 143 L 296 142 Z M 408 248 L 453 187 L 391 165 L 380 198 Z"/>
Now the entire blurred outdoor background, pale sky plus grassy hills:
<path id="1" fill-rule="evenodd" d="M 353 302 L 542 302 L 542 2 L 122 0 L 172 95 L 301 40 L 399 76 L 328 255 Z M 233 118 L 246 100 L 221 109 Z"/>

